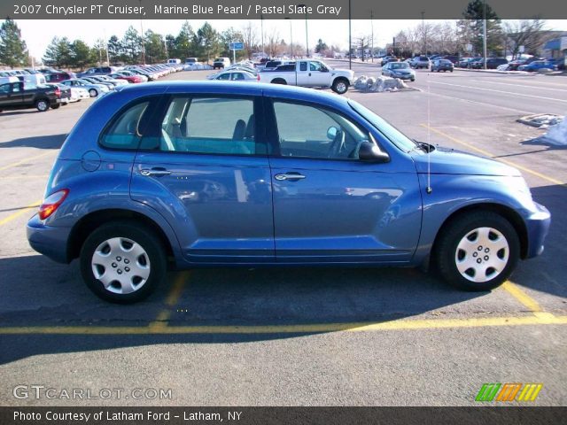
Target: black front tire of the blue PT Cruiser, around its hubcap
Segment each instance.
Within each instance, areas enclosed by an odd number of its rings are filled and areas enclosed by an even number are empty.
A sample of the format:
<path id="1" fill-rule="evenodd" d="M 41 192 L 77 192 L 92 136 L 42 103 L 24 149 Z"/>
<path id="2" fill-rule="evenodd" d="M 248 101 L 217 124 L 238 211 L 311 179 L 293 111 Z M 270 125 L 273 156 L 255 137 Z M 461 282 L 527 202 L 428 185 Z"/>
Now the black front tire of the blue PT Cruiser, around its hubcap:
<path id="1" fill-rule="evenodd" d="M 495 229 L 501 233 L 501 236 L 503 236 L 508 243 L 507 263 L 502 268 L 500 274 L 496 274 L 493 278 L 485 280 L 484 282 L 470 281 L 464 277 L 457 268 L 457 247 L 465 236 L 469 235 L 470 232 L 477 228 Z M 474 241 L 471 242 L 474 244 Z M 489 255 L 501 257 L 501 255 L 505 253 L 503 249 L 493 253 L 487 252 L 488 255 L 481 258 L 481 256 L 485 254 L 484 249 L 482 245 L 479 245 L 478 250 L 480 251 L 478 252 L 482 252 L 482 254 L 478 255 L 478 259 L 475 260 L 476 262 L 480 260 L 481 263 L 484 264 L 483 259 L 490 259 Z M 497 213 L 479 211 L 478 213 L 466 213 L 449 221 L 447 225 L 441 229 L 432 254 L 435 265 L 441 276 L 455 288 L 468 291 L 493 290 L 500 286 L 501 283 L 506 282 L 510 274 L 512 274 L 516 268 L 517 261 L 520 257 L 520 241 L 516 229 L 510 224 L 509 220 L 506 220 Z M 474 256 L 473 254 L 473 257 Z M 490 270 L 490 267 L 486 268 L 486 271 L 487 270 Z"/>

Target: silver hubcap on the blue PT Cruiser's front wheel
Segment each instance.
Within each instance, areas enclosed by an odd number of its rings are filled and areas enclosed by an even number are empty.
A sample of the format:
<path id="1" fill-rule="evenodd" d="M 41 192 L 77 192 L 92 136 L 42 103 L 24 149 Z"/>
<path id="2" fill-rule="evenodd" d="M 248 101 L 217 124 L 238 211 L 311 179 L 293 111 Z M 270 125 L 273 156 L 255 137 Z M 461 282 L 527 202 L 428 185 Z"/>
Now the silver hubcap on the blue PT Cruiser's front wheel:
<path id="1" fill-rule="evenodd" d="M 457 245 L 454 261 L 462 277 L 470 282 L 487 282 L 508 264 L 509 244 L 495 228 L 475 228 Z"/>

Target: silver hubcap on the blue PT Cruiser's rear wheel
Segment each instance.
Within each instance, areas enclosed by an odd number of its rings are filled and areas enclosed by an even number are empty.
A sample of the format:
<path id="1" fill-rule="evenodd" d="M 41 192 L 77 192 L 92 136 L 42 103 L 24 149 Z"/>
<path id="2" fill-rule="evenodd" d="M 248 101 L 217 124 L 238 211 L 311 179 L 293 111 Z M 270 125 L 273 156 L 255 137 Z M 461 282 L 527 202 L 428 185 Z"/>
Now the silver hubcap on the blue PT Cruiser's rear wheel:
<path id="1" fill-rule="evenodd" d="M 105 290 L 129 294 L 144 286 L 150 276 L 150 258 L 141 245 L 126 237 L 99 244 L 90 261 L 95 278 Z"/>

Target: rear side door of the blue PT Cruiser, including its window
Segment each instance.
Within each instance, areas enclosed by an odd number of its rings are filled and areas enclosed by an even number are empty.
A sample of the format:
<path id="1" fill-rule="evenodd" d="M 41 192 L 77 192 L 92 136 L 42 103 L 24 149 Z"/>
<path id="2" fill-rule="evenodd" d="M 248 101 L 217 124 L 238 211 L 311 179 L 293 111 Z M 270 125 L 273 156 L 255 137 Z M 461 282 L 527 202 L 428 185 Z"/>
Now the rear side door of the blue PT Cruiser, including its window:
<path id="1" fill-rule="evenodd" d="M 259 102 L 251 96 L 174 95 L 141 142 L 131 197 L 164 214 L 190 262 L 275 259 Z"/>

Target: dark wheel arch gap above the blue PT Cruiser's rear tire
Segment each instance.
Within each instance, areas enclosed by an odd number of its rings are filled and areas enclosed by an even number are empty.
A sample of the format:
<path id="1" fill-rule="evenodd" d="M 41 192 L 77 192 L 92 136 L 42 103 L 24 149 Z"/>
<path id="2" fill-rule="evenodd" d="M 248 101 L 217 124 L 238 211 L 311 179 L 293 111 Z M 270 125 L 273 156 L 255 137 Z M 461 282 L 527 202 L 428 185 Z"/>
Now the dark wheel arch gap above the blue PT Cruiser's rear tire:
<path id="1" fill-rule="evenodd" d="M 79 257 L 82 244 L 92 231 L 113 220 L 128 220 L 139 223 L 146 228 L 150 228 L 155 232 L 156 236 L 159 237 L 159 240 L 166 248 L 167 257 L 175 257 L 172 242 L 167 237 L 166 232 L 164 232 L 155 220 L 152 220 L 143 213 L 116 208 L 97 210 L 92 213 L 88 213 L 74 224 L 67 241 L 67 261 L 70 262 L 72 259 Z"/>

